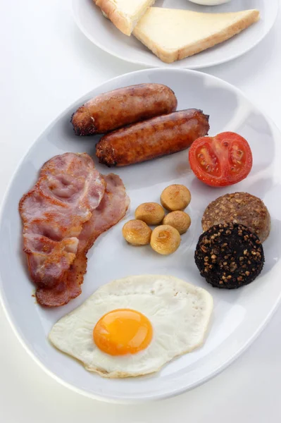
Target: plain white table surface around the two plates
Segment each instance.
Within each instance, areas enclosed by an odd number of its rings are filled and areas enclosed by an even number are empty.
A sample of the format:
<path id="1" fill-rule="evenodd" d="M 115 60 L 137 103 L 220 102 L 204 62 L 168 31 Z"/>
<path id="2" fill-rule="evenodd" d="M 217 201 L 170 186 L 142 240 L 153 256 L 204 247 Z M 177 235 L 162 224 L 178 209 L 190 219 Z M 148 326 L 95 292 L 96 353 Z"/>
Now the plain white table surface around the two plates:
<path id="1" fill-rule="evenodd" d="M 27 148 L 66 106 L 141 68 L 94 47 L 75 26 L 69 0 L 2 1 L 1 16 L 0 200 Z M 242 89 L 281 129 L 281 15 L 249 54 L 205 71 Z M 204 386 L 126 406 L 79 396 L 47 376 L 0 308 L 0 422 L 280 422 L 280 322 L 281 307 L 251 348 Z"/>

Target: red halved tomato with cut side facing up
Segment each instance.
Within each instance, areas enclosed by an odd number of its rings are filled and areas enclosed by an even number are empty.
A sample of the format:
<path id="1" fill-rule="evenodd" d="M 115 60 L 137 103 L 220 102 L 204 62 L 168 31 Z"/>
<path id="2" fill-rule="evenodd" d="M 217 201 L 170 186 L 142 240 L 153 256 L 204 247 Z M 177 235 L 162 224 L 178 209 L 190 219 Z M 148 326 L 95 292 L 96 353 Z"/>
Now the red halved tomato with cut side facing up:
<path id="1" fill-rule="evenodd" d="M 251 171 L 253 157 L 246 140 L 236 133 L 201 137 L 189 149 L 189 163 L 195 176 L 213 187 L 240 182 Z"/>

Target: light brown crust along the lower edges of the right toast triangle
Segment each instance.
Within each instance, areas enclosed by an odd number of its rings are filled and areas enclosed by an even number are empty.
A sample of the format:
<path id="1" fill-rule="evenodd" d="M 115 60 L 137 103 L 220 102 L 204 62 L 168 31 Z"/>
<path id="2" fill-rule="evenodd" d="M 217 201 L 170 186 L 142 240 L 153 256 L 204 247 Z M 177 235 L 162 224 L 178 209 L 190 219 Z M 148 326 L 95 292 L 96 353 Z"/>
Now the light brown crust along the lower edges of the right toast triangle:
<path id="1" fill-rule="evenodd" d="M 194 42 L 193 44 L 189 44 L 186 47 L 182 47 L 177 51 L 167 51 L 163 49 L 161 46 L 154 44 L 154 42 L 147 37 L 139 27 L 135 27 L 133 35 L 139 41 L 141 41 L 146 47 L 148 47 L 156 56 L 158 56 L 161 61 L 165 63 L 173 63 L 177 60 L 185 59 L 186 57 L 193 56 L 194 54 L 200 53 L 200 51 L 204 51 L 211 47 L 216 46 L 216 44 L 220 44 L 221 42 L 226 41 L 227 39 L 232 38 L 234 35 L 239 34 L 242 30 L 246 29 L 253 23 L 257 22 L 260 18 L 259 11 L 253 10 L 249 15 L 244 16 L 238 22 L 235 22 L 233 25 L 227 27 L 226 30 L 222 30 L 218 32 L 216 35 L 211 35 L 202 39 L 200 42 Z"/>

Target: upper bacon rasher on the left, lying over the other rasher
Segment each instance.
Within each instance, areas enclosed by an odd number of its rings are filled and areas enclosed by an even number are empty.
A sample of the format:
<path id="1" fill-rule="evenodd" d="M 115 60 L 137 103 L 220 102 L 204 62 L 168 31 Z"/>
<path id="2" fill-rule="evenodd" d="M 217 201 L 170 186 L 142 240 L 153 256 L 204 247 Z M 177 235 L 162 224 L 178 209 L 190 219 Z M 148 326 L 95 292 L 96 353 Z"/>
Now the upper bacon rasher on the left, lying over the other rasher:
<path id="1" fill-rule="evenodd" d="M 37 286 L 56 286 L 75 259 L 83 224 L 99 206 L 106 184 L 87 154 L 46 161 L 20 200 L 23 250 Z"/>

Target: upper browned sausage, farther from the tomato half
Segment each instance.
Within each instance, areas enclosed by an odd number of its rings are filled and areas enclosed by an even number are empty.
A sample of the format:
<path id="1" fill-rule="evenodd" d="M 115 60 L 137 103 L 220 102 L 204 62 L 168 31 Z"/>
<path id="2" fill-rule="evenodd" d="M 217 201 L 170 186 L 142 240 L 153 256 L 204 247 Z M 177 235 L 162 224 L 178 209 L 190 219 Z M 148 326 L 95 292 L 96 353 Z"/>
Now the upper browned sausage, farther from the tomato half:
<path id="1" fill-rule="evenodd" d="M 71 118 L 76 135 L 103 134 L 177 109 L 166 85 L 139 84 L 105 92 L 81 106 Z"/>

